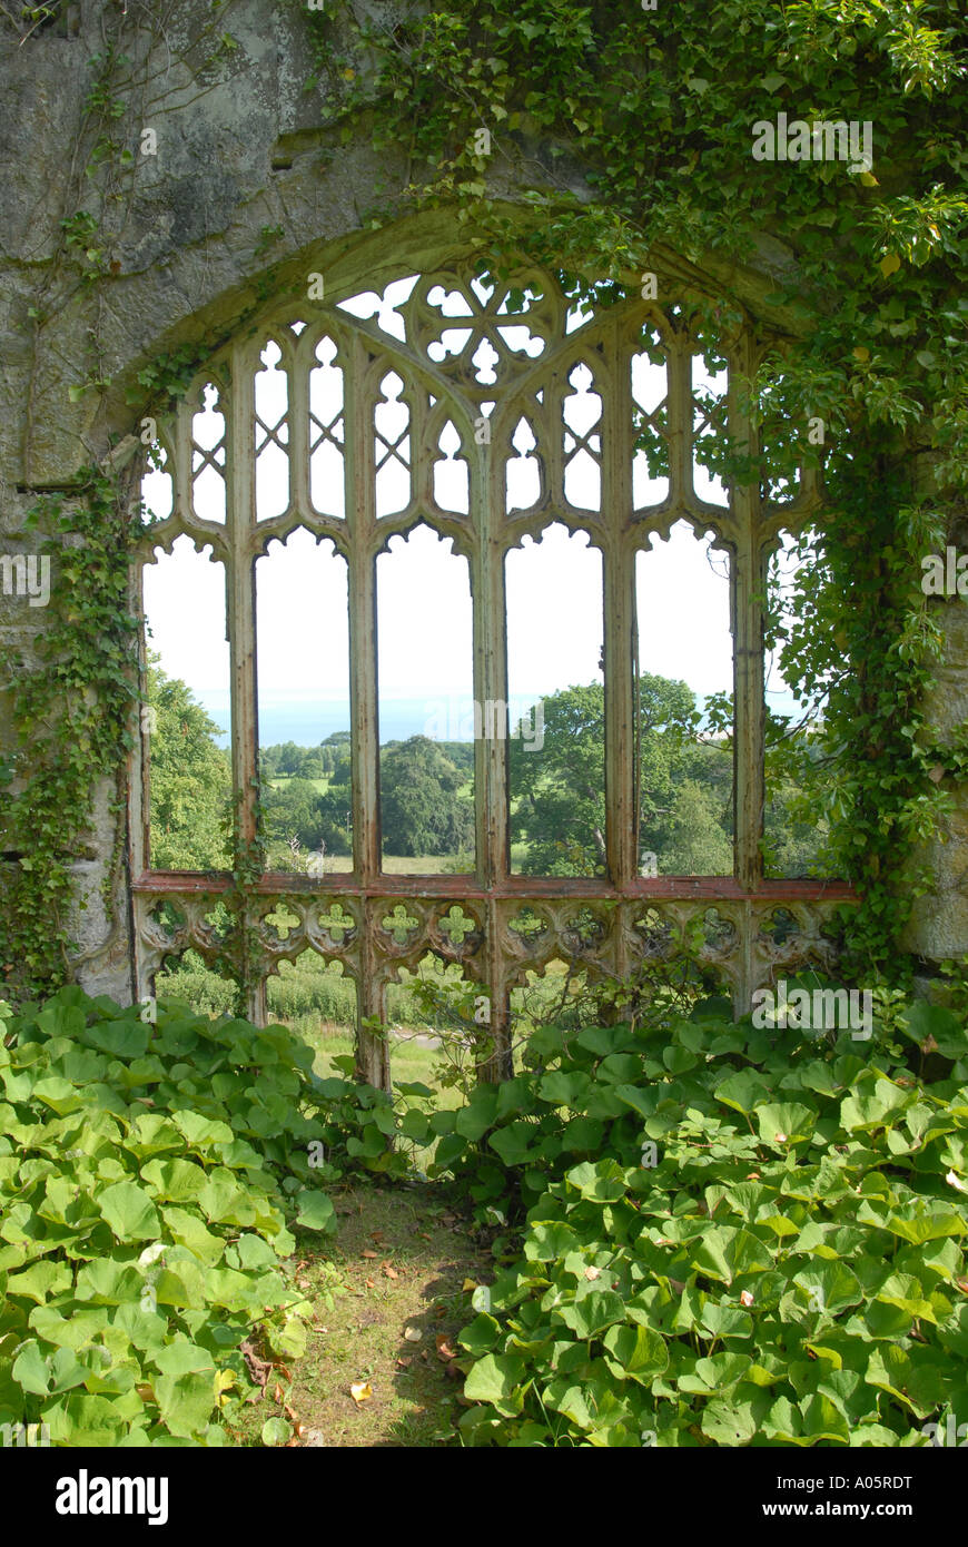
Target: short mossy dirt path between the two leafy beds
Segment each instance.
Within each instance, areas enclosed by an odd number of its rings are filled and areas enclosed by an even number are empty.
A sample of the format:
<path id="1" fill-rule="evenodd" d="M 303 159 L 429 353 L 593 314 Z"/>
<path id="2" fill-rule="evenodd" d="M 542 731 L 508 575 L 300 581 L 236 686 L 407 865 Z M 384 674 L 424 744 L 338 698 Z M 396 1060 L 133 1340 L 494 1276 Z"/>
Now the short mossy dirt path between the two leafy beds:
<path id="1" fill-rule="evenodd" d="M 300 1273 L 317 1318 L 285 1392 L 303 1443 L 453 1443 L 462 1377 L 450 1355 L 473 1318 L 464 1286 L 489 1282 L 493 1259 L 439 1185 L 359 1185 L 332 1199 L 340 1228 Z M 281 1411 L 266 1402 L 263 1416 Z"/>

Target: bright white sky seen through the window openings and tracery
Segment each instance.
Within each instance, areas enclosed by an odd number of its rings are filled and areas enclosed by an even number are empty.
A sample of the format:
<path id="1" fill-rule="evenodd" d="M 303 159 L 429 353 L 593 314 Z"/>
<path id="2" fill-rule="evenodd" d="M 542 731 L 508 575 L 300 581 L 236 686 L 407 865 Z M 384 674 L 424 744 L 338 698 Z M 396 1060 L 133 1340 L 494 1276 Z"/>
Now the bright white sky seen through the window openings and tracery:
<path id="1" fill-rule="evenodd" d="M 385 292 L 357 297 L 346 303 L 356 316 L 376 316 L 396 336 L 402 322 L 393 306 L 413 288 L 399 282 Z M 430 294 L 439 302 L 442 317 L 461 319 L 467 312 L 459 294 L 442 288 Z M 470 319 L 473 320 L 473 319 Z M 569 331 L 580 326 L 572 314 Z M 513 348 L 540 353 L 540 340 L 527 328 L 506 330 Z M 444 330 L 436 356 L 464 345 L 469 334 Z M 288 504 L 288 458 L 277 441 L 285 441 L 285 373 L 275 368 L 278 347 L 263 351 L 264 368 L 257 374 L 255 407 L 263 429 L 257 458 L 257 518 L 280 514 Z M 317 509 L 343 514 L 342 493 L 342 371 L 332 365 L 332 345 L 323 340 L 315 351 L 319 362 L 311 373 L 309 408 L 317 441 L 311 456 L 311 495 Z M 478 379 L 493 379 L 496 351 L 481 348 L 473 354 Z M 489 376 L 490 373 L 490 376 Z M 725 371 L 711 376 L 700 357 L 694 359 L 694 385 L 714 396 L 725 391 Z M 581 509 L 598 507 L 598 469 L 585 449 L 598 450 L 595 425 L 602 399 L 586 367 L 569 376 L 572 394 L 564 407 L 564 450 L 571 450 L 566 470 L 568 498 Z M 407 408 L 397 401 L 400 377 L 388 371 L 382 381 L 385 402 L 376 413 L 377 515 L 391 515 L 410 498 Z M 632 367 L 632 393 L 645 412 L 653 412 L 665 396 L 665 368 L 645 354 Z M 487 405 L 486 405 L 487 407 Z M 193 433 L 203 450 L 213 452 L 223 419 L 215 394 L 206 394 L 206 408 L 195 416 Z M 507 463 L 507 506 L 526 507 L 537 497 L 537 464 L 526 453 L 535 438 L 521 421 L 513 438 L 516 456 Z M 441 458 L 435 464 L 435 497 L 445 509 L 467 511 L 467 469 L 455 456 L 459 436 L 447 424 L 439 438 Z M 402 458 L 400 458 L 402 453 Z M 213 452 L 218 461 L 221 453 Z M 223 480 L 204 456 L 196 455 L 195 500 L 199 514 L 224 520 Z M 636 455 L 632 469 L 636 506 L 657 503 L 665 481 L 651 480 L 645 456 Z M 716 480 L 696 467 L 696 489 L 704 498 L 725 504 Z M 170 480 L 150 473 L 142 484 L 148 509 L 158 515 L 170 511 Z M 711 535 L 711 534 L 710 534 Z M 210 549 L 195 551 L 181 537 L 172 555 L 156 549 L 158 562 L 145 565 L 144 602 L 150 625 L 148 648 L 161 653 L 161 665 L 189 682 L 196 698 L 227 730 L 229 647 L 224 637 L 224 575 L 212 563 Z M 512 713 L 524 713 L 540 696 L 575 684 L 602 681 L 602 555 L 583 532 L 569 534 L 555 523 L 541 541 L 524 538 L 506 562 L 509 701 Z M 714 552 L 710 540 L 697 538 L 693 528 L 679 521 L 668 541 L 653 537 L 651 548 L 636 558 L 639 611 L 639 662 L 642 671 L 683 679 L 700 696 L 731 688 L 731 639 L 728 630 L 727 555 Z M 260 684 L 260 741 L 297 741 L 311 746 L 331 730 L 348 729 L 348 622 L 346 565 L 328 540 L 317 543 L 306 531 L 288 541 L 269 545 L 257 560 L 257 636 Z M 448 538 L 438 538 L 421 524 L 407 538 L 394 537 L 388 552 L 377 558 L 377 647 L 380 687 L 380 739 L 414 733 L 442 739 L 469 739 L 472 735 L 472 611 L 467 562 L 453 554 Z M 776 671 L 772 673 L 770 702 L 792 709 Z"/>

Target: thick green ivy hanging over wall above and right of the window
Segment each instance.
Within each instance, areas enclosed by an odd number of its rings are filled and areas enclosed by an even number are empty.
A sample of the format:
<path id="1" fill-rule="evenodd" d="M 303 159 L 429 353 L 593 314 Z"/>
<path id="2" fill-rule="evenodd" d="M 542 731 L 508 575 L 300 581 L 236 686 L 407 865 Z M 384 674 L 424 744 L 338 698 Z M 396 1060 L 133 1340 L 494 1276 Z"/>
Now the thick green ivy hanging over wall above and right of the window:
<path id="1" fill-rule="evenodd" d="M 920 591 L 920 558 L 943 546 L 968 486 L 962 20 L 960 0 L 456 0 L 308 15 L 309 85 L 325 79 L 342 99 L 343 139 L 365 122 L 379 150 L 402 149 L 404 198 L 456 204 L 493 274 L 533 257 L 600 295 L 671 252 L 711 268 L 727 305 L 742 300 L 730 265 L 765 255 L 784 275 L 765 305 L 787 337 L 745 384 L 761 450 L 724 439 L 717 470 L 792 476 L 816 461 L 807 427 L 823 419 L 824 529 L 801 549 L 801 622 L 778 640 L 779 664 L 792 690 L 829 693 L 816 795 L 833 862 L 861 893 L 846 965 L 867 976 L 902 967 L 897 942 L 928 885 L 915 845 L 968 769 L 968 738 L 937 746 L 925 716 L 942 633 Z M 779 113 L 869 124 L 871 164 L 755 161 L 753 124 Z M 533 203 L 526 229 L 492 201 L 495 179 Z M 784 244 L 782 261 L 764 240 Z M 708 299 L 696 303 L 714 322 Z M 929 473 L 915 478 L 922 450 Z"/>

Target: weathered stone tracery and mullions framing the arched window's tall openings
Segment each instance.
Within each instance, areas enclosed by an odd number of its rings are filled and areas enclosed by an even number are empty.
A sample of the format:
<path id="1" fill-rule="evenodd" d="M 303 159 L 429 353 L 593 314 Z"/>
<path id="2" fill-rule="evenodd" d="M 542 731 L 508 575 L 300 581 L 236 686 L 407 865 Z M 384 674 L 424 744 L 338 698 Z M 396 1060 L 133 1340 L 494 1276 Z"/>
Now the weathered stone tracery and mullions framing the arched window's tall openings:
<path id="1" fill-rule="evenodd" d="M 289 302 L 213 356 L 158 421 L 144 480 L 145 560 L 155 545 L 186 537 L 224 566 L 237 854 L 221 874 L 152 869 L 145 801 L 131 854 L 142 993 L 179 951 L 224 962 L 226 942 L 213 944 L 206 919 L 232 891 L 232 868 L 246 876 L 235 922 L 246 925 L 237 934 L 247 1013 L 264 1019 L 280 961 L 306 948 L 339 961 L 356 984 L 357 1064 L 377 1084 L 388 1084 L 390 1055 L 365 1023 L 385 1018 L 390 984 L 428 951 L 481 990 L 484 1078 L 510 1072 L 509 1002 L 529 972 L 563 959 L 623 976 L 651 941 L 680 937 L 713 902 L 724 927 L 707 939 L 710 962 L 739 1006 L 772 970 L 779 947 L 761 924 L 778 900 L 795 914 L 804 959 L 816 959 L 821 924 L 849 888 L 764 880 L 762 865 L 765 568 L 781 528 L 807 518 L 816 490 L 803 475 L 792 500 L 772 504 L 756 487 L 727 489 L 711 455 L 727 427 L 733 442 L 752 444 L 735 390 L 752 351 L 745 334 L 728 347 L 691 336 L 680 306 L 629 300 L 597 311 L 569 302 L 550 274 L 495 285 L 452 269 L 402 275 L 380 294 Z M 733 854 L 722 876 L 643 873 L 640 854 L 637 555 L 648 558 L 683 521 L 696 543 L 708 535 L 728 571 Z M 569 622 L 600 647 L 603 831 L 600 863 L 586 873 L 524 874 L 510 842 L 523 716 L 510 693 L 520 645 L 509 661 L 506 572 L 515 554 L 540 552 L 552 528 L 597 565 L 595 605 L 589 591 Z M 418 529 L 450 543 L 470 582 L 470 874 L 388 874 L 383 865 L 377 572 L 400 543 L 422 540 Z M 269 659 L 275 636 L 288 637 L 288 623 L 285 599 L 260 613 L 257 579 L 271 563 L 263 555 L 309 540 L 339 558 L 346 580 L 340 746 L 349 764 L 340 787 L 351 868 L 325 855 L 315 868 L 268 866 L 269 845 L 260 871 L 258 659 L 260 648 Z M 552 566 L 546 585 L 555 583 Z M 325 682 L 326 650 L 302 605 L 291 631 L 300 662 L 315 654 Z M 447 651 L 445 630 L 439 645 Z M 526 724 L 533 735 L 533 707 Z M 145 769 L 145 791 L 148 752 L 144 735 L 135 772 Z M 178 903 L 179 922 L 161 919 L 159 900 Z M 448 927 L 456 903 L 467 930 Z M 285 939 L 271 922 L 283 907 L 294 920 Z M 540 928 L 513 928 L 523 913 Z M 789 942 L 784 950 L 787 965 Z"/>

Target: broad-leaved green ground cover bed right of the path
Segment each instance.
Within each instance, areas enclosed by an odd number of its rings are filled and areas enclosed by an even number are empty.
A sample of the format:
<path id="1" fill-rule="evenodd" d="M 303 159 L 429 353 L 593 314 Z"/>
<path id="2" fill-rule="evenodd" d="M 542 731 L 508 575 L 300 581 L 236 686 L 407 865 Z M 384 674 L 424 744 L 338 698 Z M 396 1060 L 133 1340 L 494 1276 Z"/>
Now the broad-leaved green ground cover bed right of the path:
<path id="1" fill-rule="evenodd" d="M 881 996 L 869 1041 L 721 1002 L 552 1027 L 431 1122 L 521 1244 L 476 1289 L 467 1443 L 931 1443 L 968 1422 L 968 1035 Z"/>

